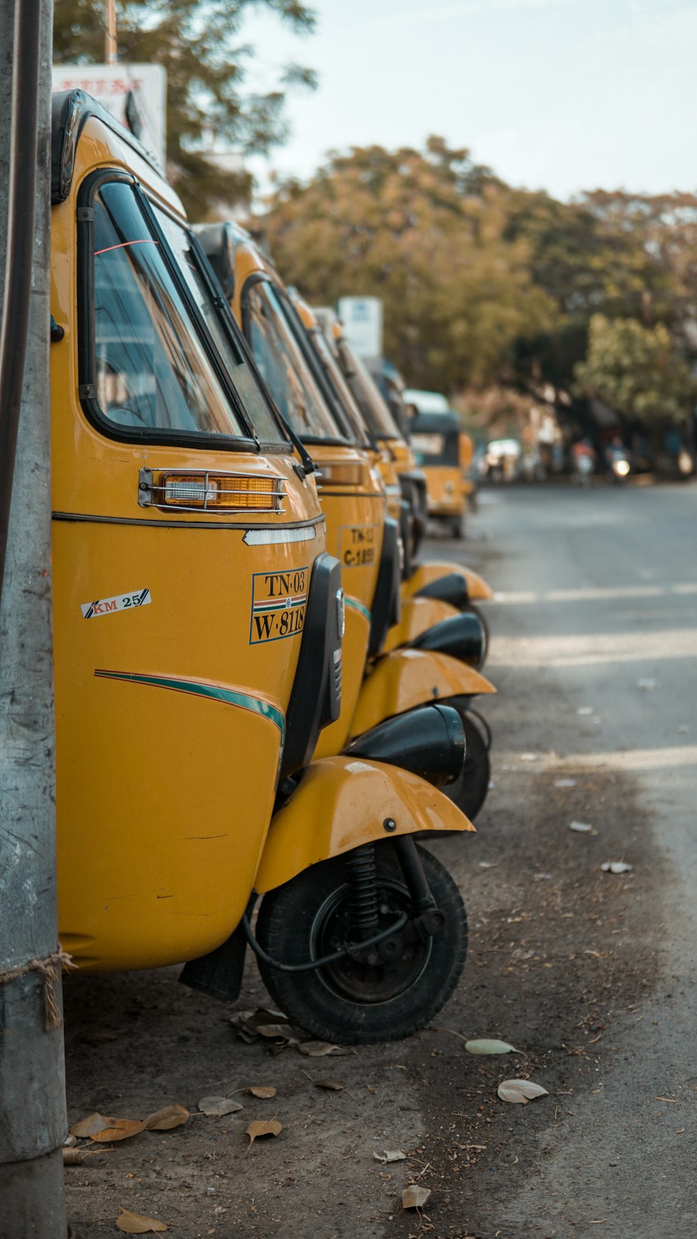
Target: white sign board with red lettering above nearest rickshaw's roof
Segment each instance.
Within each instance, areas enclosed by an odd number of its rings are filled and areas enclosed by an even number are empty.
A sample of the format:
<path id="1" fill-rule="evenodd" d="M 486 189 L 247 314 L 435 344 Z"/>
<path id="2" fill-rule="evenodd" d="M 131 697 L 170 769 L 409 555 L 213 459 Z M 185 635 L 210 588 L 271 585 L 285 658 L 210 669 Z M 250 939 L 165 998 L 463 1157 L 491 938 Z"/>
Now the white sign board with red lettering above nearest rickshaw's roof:
<path id="1" fill-rule="evenodd" d="M 161 64 L 56 64 L 57 90 L 92 94 L 165 167 L 167 74 Z"/>

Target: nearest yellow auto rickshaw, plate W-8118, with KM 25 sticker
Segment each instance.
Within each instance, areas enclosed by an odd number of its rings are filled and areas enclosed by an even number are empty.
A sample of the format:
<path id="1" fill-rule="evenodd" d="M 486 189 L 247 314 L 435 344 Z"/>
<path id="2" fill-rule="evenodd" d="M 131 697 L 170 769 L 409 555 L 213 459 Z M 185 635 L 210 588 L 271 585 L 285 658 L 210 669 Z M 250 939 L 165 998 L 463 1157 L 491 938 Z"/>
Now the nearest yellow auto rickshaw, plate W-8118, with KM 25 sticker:
<path id="1" fill-rule="evenodd" d="M 178 198 L 79 90 L 53 99 L 52 202 L 62 945 L 88 971 L 187 960 L 235 999 L 249 944 L 316 1036 L 406 1036 L 464 963 L 457 887 L 413 843 L 473 829 L 420 777 L 461 769 L 458 716 L 421 711 L 410 769 L 311 760 L 343 591 L 307 453 Z"/>

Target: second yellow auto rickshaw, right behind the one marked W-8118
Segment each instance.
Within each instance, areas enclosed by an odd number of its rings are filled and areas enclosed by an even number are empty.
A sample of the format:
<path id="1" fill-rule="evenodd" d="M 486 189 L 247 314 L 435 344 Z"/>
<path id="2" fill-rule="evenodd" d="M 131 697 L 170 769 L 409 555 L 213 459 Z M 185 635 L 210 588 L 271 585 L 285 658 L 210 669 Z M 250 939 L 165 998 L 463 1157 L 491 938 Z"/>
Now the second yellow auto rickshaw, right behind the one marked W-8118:
<path id="1" fill-rule="evenodd" d="M 483 788 L 480 772 L 472 783 L 465 768 L 448 789 L 463 812 L 470 807 L 477 810 L 489 782 L 488 756 L 468 706 L 473 695 L 494 689 L 463 659 L 467 641 L 472 662 L 480 659 L 482 629 L 469 623 L 473 617 L 457 616 L 454 634 L 452 628 L 437 632 L 442 626 L 436 626 L 422 632 L 413 648 L 381 655 L 399 601 L 399 528 L 385 518 L 385 497 L 379 471 L 370 461 L 370 442 L 355 441 L 358 434 L 366 439 L 363 426 L 352 429 L 354 420 L 360 425 L 360 414 L 350 414 L 342 401 L 340 373 L 329 384 L 296 306 L 251 239 L 233 224 L 203 225 L 198 235 L 274 399 L 318 466 L 328 545 L 342 561 L 347 596 L 342 712 L 322 733 L 317 756 L 363 752 L 364 743 L 378 742 L 376 729 L 380 742 L 399 733 L 401 746 L 407 745 L 409 736 L 409 746 L 418 751 L 417 720 L 409 711 L 427 701 L 447 700 L 462 714 L 468 738 L 474 727 L 474 757 L 479 746 L 484 747 Z M 303 312 L 308 312 L 306 307 Z M 319 337 L 321 332 L 313 338 Z M 331 354 L 327 361 L 334 364 Z M 447 623 L 452 624 L 452 620 Z"/>

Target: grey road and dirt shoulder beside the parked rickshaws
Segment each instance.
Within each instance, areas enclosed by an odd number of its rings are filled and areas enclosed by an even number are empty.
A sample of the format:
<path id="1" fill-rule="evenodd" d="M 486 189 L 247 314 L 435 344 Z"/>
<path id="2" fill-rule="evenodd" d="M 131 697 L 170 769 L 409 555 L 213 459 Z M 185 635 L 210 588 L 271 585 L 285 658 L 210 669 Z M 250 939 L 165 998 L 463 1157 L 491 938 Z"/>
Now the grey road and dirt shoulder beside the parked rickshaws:
<path id="1" fill-rule="evenodd" d="M 241 1042 L 176 970 L 68 978 L 72 1121 L 277 1089 L 68 1170 L 80 1239 L 119 1206 L 178 1239 L 695 1239 L 696 518 L 696 487 L 500 487 L 465 541 L 427 544 L 501 595 L 494 786 L 475 836 L 433 845 L 469 909 L 463 983 L 436 1027 L 316 1061 Z M 264 1002 L 250 963 L 236 1009 Z M 499 1100 L 511 1077 L 547 1095 Z M 284 1130 L 246 1156 L 258 1118 Z"/>

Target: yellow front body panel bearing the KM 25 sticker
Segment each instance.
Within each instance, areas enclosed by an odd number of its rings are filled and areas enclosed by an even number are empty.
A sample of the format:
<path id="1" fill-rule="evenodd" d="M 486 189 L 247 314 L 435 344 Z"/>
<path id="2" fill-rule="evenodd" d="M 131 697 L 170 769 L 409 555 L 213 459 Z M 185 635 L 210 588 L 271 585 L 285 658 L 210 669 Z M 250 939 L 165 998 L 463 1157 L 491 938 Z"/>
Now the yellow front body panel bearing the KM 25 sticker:
<path id="1" fill-rule="evenodd" d="M 300 650 L 300 632 L 259 639 L 254 615 L 277 574 L 306 587 L 326 536 L 314 482 L 287 455 L 123 442 L 88 422 L 76 199 L 95 167 L 132 169 L 181 207 L 93 118 L 71 195 L 52 209 L 51 309 L 66 332 L 51 352 L 59 933 L 83 968 L 132 969 L 196 958 L 239 922 Z M 144 509 L 142 467 L 280 477 L 285 510 Z M 301 540 L 279 540 L 288 525 Z M 260 530 L 262 544 L 246 540 Z M 147 605 L 114 602 L 144 591 Z"/>

